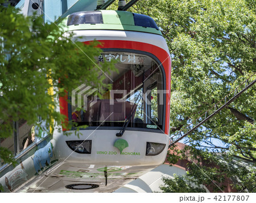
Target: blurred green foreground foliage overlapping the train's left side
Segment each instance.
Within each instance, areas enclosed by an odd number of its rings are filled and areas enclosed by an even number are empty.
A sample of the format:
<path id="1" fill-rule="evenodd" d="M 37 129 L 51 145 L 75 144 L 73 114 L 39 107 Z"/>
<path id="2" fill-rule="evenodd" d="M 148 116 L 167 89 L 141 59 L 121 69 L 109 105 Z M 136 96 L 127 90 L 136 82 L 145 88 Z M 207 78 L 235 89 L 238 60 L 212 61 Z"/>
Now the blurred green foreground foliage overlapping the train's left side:
<path id="1" fill-rule="evenodd" d="M 1 3 L 1 2 L 0 2 Z M 49 126 L 65 125 L 56 109 L 59 97 L 81 85 L 104 86 L 100 77 L 113 67 L 94 63 L 101 50 L 97 42 L 73 42 L 63 27 L 43 23 L 43 18 L 24 17 L 14 7 L 0 6 L 0 138 L 13 133 L 13 121 L 36 125 L 40 117 Z M 48 90 L 53 89 L 53 95 Z M 54 123 L 52 122 L 54 120 Z M 10 152 L 1 147 L 0 158 L 10 163 Z"/>

